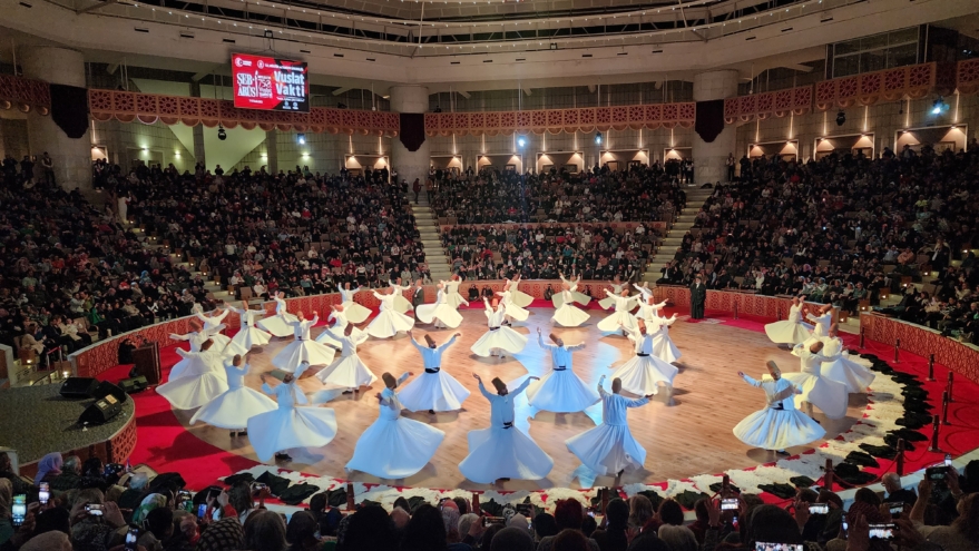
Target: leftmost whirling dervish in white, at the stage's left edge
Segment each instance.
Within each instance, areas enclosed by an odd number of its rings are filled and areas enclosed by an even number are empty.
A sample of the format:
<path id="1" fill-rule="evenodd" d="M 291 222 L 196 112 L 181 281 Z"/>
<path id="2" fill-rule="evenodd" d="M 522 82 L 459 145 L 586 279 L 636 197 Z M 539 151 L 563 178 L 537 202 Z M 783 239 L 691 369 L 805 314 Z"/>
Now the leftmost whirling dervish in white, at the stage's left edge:
<path id="1" fill-rule="evenodd" d="M 193 410 L 227 391 L 227 377 L 221 368 L 221 352 L 213 347 L 213 341 L 205 341 L 200 352 L 177 348 L 177 354 L 188 361 L 187 370 L 180 377 L 156 387 L 156 393 L 167 399 L 172 406 Z"/>

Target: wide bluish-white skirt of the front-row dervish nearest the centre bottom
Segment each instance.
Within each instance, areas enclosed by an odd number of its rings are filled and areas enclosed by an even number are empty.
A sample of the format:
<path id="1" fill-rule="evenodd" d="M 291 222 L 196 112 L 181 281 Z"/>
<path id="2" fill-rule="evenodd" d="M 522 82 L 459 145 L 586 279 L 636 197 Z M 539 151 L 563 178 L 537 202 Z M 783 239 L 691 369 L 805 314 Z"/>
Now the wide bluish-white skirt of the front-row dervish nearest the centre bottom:
<path id="1" fill-rule="evenodd" d="M 459 471 L 472 482 L 540 480 L 554 469 L 551 456 L 516 426 L 469 431 L 468 440 L 469 455 L 459 463 Z"/>

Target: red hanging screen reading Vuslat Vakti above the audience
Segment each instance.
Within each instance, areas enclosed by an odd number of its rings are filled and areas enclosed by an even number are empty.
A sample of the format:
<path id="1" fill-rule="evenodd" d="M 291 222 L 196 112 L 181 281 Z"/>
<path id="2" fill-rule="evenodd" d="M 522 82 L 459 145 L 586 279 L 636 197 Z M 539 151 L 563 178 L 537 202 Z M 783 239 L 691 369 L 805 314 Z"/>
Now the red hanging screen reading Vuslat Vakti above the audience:
<path id="1" fill-rule="evenodd" d="M 232 53 L 235 107 L 310 112 L 307 71 L 303 61 Z"/>

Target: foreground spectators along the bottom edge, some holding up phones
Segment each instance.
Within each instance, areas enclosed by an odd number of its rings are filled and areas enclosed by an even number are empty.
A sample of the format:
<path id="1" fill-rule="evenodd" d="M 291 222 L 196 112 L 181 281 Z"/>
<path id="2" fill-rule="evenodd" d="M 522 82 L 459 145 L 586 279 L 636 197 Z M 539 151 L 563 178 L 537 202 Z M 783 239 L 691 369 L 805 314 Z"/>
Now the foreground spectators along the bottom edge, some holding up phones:
<path id="1" fill-rule="evenodd" d="M 284 479 L 283 479 L 284 480 Z M 973 551 L 979 549 L 979 462 L 943 481 L 924 479 L 917 492 L 888 473 L 883 492 L 860 489 L 844 506 L 828 490 L 800 488 L 775 505 L 724 490 L 687 504 L 644 492 L 623 499 L 611 490 L 585 506 L 558 500 L 554 512 L 533 505 L 478 503 L 462 498 L 428 503 L 399 498 L 389 512 L 353 502 L 343 491 L 312 493 L 309 508 L 275 512 L 288 489 L 247 478 L 196 493 L 178 473 L 150 475 L 123 465 L 84 463 L 53 453 L 31 481 L 13 474 L 0 454 L 0 551 Z M 46 483 L 49 499 L 40 502 Z M 315 492 L 315 490 L 313 490 Z M 278 494 L 275 496 L 275 494 Z M 722 510 L 722 499 L 736 508 Z M 12 503 L 25 503 L 14 521 Z M 22 501 L 21 501 L 22 500 Z M 302 500 L 302 498 L 298 498 Z M 824 504 L 818 513 L 815 504 Z M 878 539 L 892 523 L 892 539 Z M 763 545 L 758 545 L 762 543 Z"/>

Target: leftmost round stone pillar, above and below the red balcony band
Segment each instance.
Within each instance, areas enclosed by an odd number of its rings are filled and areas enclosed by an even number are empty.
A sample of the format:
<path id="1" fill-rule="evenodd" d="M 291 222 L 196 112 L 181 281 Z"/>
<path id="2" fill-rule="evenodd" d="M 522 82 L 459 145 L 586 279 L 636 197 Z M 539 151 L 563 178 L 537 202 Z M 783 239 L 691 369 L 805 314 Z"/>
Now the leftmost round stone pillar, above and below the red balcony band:
<path id="1" fill-rule="evenodd" d="M 21 48 L 23 76 L 52 85 L 85 88 L 85 57 L 80 51 L 50 46 Z M 65 189 L 91 189 L 91 125 L 85 136 L 69 138 L 50 115 L 27 114 L 28 141 L 38 159 L 48 151 L 55 161 L 55 181 Z M 40 161 L 39 161 L 40 163 Z"/>

